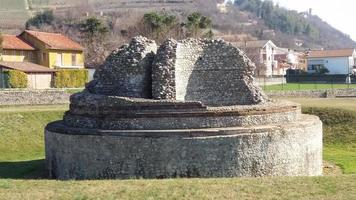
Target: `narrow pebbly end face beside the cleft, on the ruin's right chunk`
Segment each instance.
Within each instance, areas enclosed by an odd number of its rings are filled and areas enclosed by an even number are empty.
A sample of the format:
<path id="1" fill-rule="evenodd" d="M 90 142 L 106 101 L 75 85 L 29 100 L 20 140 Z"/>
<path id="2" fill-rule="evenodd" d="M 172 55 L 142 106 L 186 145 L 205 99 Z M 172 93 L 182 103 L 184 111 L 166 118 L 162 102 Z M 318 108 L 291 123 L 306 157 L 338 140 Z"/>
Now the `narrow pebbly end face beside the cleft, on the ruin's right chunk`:
<path id="1" fill-rule="evenodd" d="M 177 41 L 169 39 L 157 51 L 152 65 L 152 97 L 154 99 L 176 99 L 177 45 Z"/>

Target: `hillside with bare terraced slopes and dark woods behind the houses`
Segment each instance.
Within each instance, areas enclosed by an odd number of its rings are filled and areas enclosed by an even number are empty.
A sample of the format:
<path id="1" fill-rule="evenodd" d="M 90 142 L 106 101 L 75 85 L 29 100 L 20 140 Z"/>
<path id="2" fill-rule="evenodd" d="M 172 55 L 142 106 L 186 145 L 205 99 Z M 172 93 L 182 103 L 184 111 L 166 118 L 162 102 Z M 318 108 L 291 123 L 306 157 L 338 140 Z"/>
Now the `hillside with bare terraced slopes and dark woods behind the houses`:
<path id="1" fill-rule="evenodd" d="M 109 16 L 114 32 L 134 26 L 149 11 L 172 12 L 180 18 L 198 10 L 213 20 L 216 36 L 233 35 L 239 40 L 271 39 L 278 46 L 294 49 L 356 47 L 348 35 L 316 15 L 298 13 L 270 1 L 236 0 L 221 12 L 223 0 L 0 0 L 0 31 L 18 33 L 31 15 L 44 9 L 62 18 L 87 15 Z M 118 28 L 117 28 L 118 27 Z"/>

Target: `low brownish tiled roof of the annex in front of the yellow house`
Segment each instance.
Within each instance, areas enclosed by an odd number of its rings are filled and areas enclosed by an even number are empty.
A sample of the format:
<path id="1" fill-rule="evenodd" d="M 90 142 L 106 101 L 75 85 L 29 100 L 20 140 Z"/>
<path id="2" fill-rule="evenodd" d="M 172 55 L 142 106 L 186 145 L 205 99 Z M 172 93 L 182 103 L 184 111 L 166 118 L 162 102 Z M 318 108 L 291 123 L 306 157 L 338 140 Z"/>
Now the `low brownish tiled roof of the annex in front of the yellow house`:
<path id="1" fill-rule="evenodd" d="M 25 73 L 52 73 L 56 71 L 30 62 L 0 62 L 0 67 L 14 69 Z"/>

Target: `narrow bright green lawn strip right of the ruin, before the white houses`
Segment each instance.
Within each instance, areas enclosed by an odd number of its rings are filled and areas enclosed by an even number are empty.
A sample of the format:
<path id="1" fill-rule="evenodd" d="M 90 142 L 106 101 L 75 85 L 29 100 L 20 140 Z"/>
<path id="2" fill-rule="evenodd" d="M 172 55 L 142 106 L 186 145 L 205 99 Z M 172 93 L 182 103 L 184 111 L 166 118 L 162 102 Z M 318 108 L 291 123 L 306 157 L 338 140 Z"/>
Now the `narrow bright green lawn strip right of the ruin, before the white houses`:
<path id="1" fill-rule="evenodd" d="M 307 83 L 286 83 L 278 85 L 261 85 L 265 91 L 281 91 L 281 90 L 320 90 L 320 89 L 345 89 L 356 88 L 356 84 L 307 84 Z"/>

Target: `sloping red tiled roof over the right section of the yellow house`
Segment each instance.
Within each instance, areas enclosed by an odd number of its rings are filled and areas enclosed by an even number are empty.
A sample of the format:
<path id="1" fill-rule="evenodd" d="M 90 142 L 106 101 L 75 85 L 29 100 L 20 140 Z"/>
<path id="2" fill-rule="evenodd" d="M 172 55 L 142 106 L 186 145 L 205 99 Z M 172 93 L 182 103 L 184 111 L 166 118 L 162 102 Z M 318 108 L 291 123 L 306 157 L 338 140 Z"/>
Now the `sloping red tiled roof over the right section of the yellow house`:
<path id="1" fill-rule="evenodd" d="M 83 51 L 84 48 L 77 42 L 59 33 L 46 33 L 26 30 L 25 33 L 32 35 L 45 43 L 49 49 Z M 23 34 L 23 33 L 22 33 Z"/>

